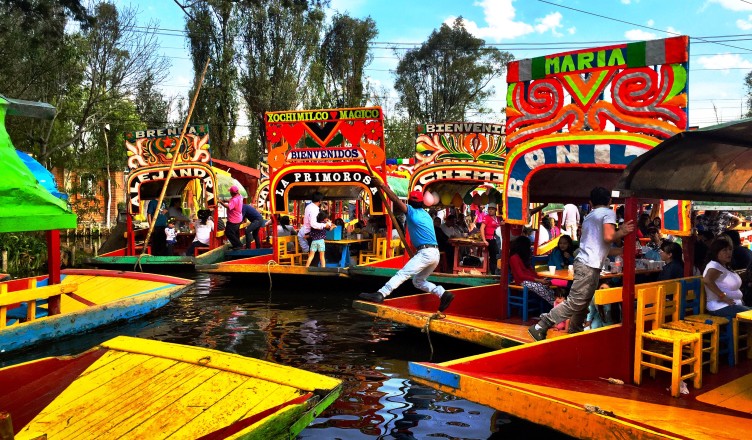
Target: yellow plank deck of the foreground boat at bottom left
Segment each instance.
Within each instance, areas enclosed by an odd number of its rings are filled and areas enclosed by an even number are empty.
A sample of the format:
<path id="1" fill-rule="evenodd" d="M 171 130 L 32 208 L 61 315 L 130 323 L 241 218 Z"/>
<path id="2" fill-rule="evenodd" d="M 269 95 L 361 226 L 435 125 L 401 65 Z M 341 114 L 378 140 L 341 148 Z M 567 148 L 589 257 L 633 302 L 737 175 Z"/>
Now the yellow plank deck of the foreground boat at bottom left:
<path id="1" fill-rule="evenodd" d="M 109 351 L 16 438 L 197 438 L 301 394 L 243 374 Z"/>

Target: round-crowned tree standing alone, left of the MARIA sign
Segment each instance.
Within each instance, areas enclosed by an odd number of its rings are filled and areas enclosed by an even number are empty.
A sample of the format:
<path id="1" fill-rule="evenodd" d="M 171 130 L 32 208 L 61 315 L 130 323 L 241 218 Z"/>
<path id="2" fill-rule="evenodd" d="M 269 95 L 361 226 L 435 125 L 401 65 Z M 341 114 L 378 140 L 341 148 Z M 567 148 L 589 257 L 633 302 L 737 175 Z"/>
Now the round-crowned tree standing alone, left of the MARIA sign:
<path id="1" fill-rule="evenodd" d="M 442 24 L 419 48 L 407 51 L 395 73 L 395 89 L 408 116 L 421 122 L 465 120 L 469 110 L 483 111 L 493 93 L 489 83 L 513 59 L 486 47 L 465 29 L 462 17 Z"/>

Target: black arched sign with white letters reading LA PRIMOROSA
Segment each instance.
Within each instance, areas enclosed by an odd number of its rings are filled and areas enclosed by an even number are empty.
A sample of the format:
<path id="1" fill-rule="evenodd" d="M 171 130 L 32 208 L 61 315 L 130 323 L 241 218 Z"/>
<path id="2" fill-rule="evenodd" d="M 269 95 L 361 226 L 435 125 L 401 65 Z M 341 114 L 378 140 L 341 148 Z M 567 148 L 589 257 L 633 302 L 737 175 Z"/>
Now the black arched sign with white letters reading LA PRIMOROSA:
<path id="1" fill-rule="evenodd" d="M 373 178 L 365 171 L 294 171 L 285 174 L 277 180 L 274 186 L 274 206 L 277 212 L 284 212 L 285 203 L 285 190 L 288 186 L 296 184 L 315 184 L 320 183 L 322 185 L 342 185 L 342 184 L 357 184 L 361 183 L 368 187 L 371 192 L 371 200 L 373 200 L 372 213 L 381 214 L 383 212 L 383 206 L 381 198 L 375 197 L 378 187 L 375 185 Z M 280 209 L 282 211 L 280 211 Z"/>

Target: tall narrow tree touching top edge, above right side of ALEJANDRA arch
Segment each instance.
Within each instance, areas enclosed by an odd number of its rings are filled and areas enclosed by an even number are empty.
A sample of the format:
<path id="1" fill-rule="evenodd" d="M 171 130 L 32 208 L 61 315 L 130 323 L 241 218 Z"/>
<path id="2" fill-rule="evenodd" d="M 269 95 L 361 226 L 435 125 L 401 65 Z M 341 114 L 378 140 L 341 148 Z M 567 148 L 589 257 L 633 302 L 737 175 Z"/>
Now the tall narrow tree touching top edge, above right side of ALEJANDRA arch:
<path id="1" fill-rule="evenodd" d="M 238 121 L 238 70 L 235 42 L 239 35 L 237 2 L 209 0 L 181 4 L 186 13 L 186 30 L 196 78 L 211 59 L 201 93 L 196 100 L 193 120 L 209 124 L 213 152 L 227 159 L 233 148 Z M 193 91 L 191 92 L 191 95 Z"/>

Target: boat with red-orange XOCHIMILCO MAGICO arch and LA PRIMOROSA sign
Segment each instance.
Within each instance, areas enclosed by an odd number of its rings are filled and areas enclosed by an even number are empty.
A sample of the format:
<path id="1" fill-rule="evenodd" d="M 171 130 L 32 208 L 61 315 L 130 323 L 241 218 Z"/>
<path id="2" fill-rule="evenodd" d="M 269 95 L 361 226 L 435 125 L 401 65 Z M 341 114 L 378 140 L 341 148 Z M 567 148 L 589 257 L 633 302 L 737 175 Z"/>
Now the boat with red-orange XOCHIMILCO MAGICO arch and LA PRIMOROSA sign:
<path id="1" fill-rule="evenodd" d="M 374 197 L 377 187 L 371 177 L 373 170 L 386 178 L 381 108 L 267 112 L 265 121 L 268 155 L 267 164 L 261 167 L 257 200 L 260 208 L 272 214 L 272 251 L 197 270 L 222 275 L 345 278 L 349 261 L 327 262 L 327 268 L 306 270 L 307 255 L 300 254 L 296 241 L 291 252 L 284 243 L 280 246 L 276 215 L 299 215 L 303 202 L 316 191 L 324 195 L 325 203 L 335 206 L 366 197 L 371 215 L 386 214 L 381 199 Z M 391 220 L 387 220 L 387 230 L 391 230 Z M 328 244 L 332 245 L 337 243 Z"/>

